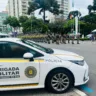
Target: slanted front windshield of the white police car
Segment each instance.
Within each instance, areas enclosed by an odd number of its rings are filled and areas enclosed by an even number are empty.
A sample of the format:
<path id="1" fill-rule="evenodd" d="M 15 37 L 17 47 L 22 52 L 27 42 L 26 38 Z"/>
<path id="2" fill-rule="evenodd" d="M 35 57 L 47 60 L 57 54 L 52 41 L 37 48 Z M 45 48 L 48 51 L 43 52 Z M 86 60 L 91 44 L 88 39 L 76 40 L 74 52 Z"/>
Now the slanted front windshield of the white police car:
<path id="1" fill-rule="evenodd" d="M 34 48 L 37 48 L 37 49 L 39 49 L 39 50 L 41 50 L 41 51 L 43 51 L 45 53 L 48 53 L 48 54 L 53 54 L 54 53 L 54 51 L 51 48 L 45 48 L 43 46 L 40 46 L 40 45 L 34 43 L 31 40 L 22 40 L 22 42 L 27 44 L 27 45 L 30 45 L 30 46 L 32 46 Z"/>

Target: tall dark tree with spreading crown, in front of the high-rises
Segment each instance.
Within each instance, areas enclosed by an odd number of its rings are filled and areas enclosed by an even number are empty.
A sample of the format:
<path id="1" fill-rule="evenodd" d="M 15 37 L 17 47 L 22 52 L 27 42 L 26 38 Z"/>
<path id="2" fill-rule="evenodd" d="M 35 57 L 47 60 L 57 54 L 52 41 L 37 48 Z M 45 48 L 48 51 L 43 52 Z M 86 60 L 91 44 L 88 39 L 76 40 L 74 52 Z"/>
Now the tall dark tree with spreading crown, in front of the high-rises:
<path id="1" fill-rule="evenodd" d="M 45 12 L 50 11 L 54 15 L 63 14 L 62 10 L 59 10 L 60 5 L 57 3 L 56 0 L 34 0 L 33 2 L 29 3 L 28 14 L 34 12 L 37 9 L 40 9 L 39 14 L 43 12 L 43 20 L 45 22 Z"/>

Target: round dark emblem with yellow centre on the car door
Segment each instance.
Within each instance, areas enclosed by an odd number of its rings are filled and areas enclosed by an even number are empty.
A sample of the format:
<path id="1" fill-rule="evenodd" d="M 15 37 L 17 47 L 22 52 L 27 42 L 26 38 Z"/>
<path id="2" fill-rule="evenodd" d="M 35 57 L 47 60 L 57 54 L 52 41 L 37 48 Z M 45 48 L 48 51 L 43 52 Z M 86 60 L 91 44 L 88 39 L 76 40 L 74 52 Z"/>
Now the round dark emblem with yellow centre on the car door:
<path id="1" fill-rule="evenodd" d="M 37 75 L 37 70 L 33 66 L 29 66 L 25 69 L 25 75 L 28 78 L 34 78 Z"/>

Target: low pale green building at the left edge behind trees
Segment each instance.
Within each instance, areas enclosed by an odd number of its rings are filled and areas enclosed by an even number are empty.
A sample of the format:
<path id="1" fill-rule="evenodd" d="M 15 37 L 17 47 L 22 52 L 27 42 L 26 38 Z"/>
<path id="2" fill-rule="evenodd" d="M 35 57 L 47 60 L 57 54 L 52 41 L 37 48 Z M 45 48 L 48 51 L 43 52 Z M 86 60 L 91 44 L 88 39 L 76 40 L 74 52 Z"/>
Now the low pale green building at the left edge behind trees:
<path id="1" fill-rule="evenodd" d="M 11 31 L 11 27 L 4 24 L 4 20 L 6 20 L 7 17 L 7 12 L 0 12 L 0 32 L 2 33 L 9 33 Z"/>

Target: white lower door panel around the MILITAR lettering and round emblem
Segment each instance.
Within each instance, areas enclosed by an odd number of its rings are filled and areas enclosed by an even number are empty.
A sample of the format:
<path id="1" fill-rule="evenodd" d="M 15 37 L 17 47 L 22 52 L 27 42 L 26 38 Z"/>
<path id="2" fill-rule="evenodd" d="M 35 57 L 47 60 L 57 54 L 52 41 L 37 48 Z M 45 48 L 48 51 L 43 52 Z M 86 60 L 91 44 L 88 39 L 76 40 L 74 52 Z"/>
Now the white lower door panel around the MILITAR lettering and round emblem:
<path id="1" fill-rule="evenodd" d="M 9 60 L 12 60 L 12 59 L 9 59 Z M 4 60 L 5 61 L 5 60 Z M 33 67 L 35 67 L 36 69 L 37 69 L 37 75 L 36 75 L 36 77 L 34 77 L 34 78 L 28 78 L 27 76 L 25 76 L 25 70 L 26 70 L 26 68 L 27 67 L 29 67 L 29 66 L 33 66 Z M 2 71 L 2 75 L 0 76 L 0 85 L 13 85 L 13 84 L 32 84 L 32 83 L 37 83 L 37 82 L 39 82 L 39 62 L 37 62 L 37 63 L 35 63 L 35 62 L 21 62 L 21 63 L 15 63 L 15 62 L 13 62 L 13 63 L 0 63 L 0 70 L 2 69 L 2 68 L 12 68 L 12 67 L 14 67 L 14 68 L 19 68 L 19 70 L 18 71 L 14 71 L 14 74 L 15 75 L 12 75 L 12 76 L 17 76 L 17 78 L 5 78 L 5 79 L 3 79 L 4 78 L 4 75 L 5 74 L 7 74 L 7 76 L 10 76 L 9 74 L 8 74 L 8 71 L 6 72 L 4 72 L 4 71 Z M 12 72 L 13 71 L 10 71 L 11 72 L 11 74 L 12 74 Z M 19 73 L 17 73 L 16 74 L 16 72 L 19 72 Z M 1 72 L 0 72 L 1 73 Z M 1 77 L 3 77 L 3 78 L 1 78 Z"/>

